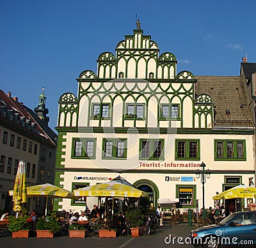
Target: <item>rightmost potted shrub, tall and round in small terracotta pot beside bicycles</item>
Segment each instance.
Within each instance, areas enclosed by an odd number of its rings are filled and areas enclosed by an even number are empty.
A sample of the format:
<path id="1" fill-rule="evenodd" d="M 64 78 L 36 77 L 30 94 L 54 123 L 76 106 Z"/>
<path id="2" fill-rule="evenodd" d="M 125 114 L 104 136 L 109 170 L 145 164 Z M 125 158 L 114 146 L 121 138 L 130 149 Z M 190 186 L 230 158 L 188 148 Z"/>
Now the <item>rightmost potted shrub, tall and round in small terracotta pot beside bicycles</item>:
<path id="1" fill-rule="evenodd" d="M 144 215 L 140 212 L 140 210 L 129 210 L 125 212 L 125 219 L 131 223 L 131 233 L 132 236 L 140 236 L 140 226 L 142 226 L 144 222 Z"/>

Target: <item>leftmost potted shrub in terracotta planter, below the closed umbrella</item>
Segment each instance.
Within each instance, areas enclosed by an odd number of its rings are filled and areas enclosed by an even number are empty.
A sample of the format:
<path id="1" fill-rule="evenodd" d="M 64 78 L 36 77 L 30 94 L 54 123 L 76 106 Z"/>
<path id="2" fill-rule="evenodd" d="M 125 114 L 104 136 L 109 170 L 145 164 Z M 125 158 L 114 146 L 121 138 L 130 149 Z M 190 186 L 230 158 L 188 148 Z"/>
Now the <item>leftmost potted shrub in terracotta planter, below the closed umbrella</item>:
<path id="1" fill-rule="evenodd" d="M 28 222 L 28 215 L 22 215 L 16 218 L 10 216 L 8 223 L 8 230 L 12 231 L 13 238 L 28 238 L 29 230 L 32 229 L 33 222 Z"/>

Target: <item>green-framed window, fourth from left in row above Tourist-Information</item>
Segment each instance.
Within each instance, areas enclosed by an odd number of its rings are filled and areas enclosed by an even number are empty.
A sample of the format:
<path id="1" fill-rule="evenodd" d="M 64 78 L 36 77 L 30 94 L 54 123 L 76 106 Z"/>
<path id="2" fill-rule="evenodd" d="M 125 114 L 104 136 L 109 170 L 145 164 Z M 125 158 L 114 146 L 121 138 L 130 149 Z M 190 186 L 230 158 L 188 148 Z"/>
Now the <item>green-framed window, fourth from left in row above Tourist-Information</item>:
<path id="1" fill-rule="evenodd" d="M 177 139 L 175 141 L 176 160 L 200 160 L 200 141 L 198 139 Z"/>

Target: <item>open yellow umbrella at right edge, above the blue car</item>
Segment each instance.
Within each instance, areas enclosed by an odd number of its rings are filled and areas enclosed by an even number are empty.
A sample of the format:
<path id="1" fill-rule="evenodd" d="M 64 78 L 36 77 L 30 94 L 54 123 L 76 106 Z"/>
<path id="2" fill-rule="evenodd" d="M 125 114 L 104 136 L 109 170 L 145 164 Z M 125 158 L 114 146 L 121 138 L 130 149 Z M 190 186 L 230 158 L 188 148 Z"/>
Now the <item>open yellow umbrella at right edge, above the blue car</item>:
<path id="1" fill-rule="evenodd" d="M 256 197 L 256 189 L 246 185 L 237 185 L 232 189 L 225 190 L 212 198 L 218 199 L 232 199 L 232 198 L 254 198 Z"/>

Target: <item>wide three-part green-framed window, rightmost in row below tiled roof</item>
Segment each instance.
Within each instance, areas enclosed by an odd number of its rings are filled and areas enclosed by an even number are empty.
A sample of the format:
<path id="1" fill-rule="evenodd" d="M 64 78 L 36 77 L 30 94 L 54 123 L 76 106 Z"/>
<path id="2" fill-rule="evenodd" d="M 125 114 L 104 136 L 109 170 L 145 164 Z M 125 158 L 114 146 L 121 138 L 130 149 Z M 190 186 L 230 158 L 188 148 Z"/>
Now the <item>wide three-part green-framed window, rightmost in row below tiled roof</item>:
<path id="1" fill-rule="evenodd" d="M 246 161 L 245 139 L 214 139 L 214 160 Z"/>

